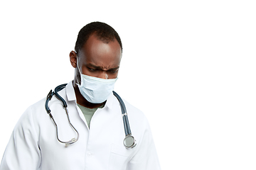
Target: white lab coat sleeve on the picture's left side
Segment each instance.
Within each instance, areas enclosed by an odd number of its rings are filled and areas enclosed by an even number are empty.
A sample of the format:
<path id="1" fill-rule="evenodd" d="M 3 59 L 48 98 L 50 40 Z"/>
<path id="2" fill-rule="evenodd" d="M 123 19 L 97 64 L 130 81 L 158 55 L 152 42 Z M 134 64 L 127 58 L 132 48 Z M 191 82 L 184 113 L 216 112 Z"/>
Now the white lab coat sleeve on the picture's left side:
<path id="1" fill-rule="evenodd" d="M 36 170 L 41 158 L 38 135 L 28 108 L 18 120 L 1 161 L 0 170 Z"/>

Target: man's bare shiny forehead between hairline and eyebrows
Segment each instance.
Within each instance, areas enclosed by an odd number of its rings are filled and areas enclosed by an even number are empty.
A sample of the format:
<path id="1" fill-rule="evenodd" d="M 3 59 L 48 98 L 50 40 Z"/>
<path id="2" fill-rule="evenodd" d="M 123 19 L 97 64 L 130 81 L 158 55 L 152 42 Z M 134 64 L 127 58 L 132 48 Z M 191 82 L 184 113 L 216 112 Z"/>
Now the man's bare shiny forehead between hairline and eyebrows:
<path id="1" fill-rule="evenodd" d="M 103 42 L 95 35 L 90 35 L 79 52 L 83 64 L 94 64 L 99 67 L 117 67 L 121 61 L 122 50 L 116 39 Z"/>

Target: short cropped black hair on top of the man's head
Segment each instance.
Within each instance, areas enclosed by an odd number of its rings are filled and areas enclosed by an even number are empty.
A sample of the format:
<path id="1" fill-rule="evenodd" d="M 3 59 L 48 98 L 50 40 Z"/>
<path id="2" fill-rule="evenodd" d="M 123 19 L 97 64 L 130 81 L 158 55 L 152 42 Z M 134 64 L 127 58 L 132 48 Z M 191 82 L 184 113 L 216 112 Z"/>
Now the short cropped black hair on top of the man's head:
<path id="1" fill-rule="evenodd" d="M 75 42 L 75 52 L 79 52 L 82 49 L 82 46 L 85 45 L 85 42 L 90 38 L 90 35 L 95 34 L 99 40 L 102 40 L 105 43 L 114 41 L 114 38 L 119 42 L 119 45 L 122 50 L 122 42 L 117 33 L 111 26 L 107 23 L 101 22 L 92 22 L 84 26 L 78 33 L 78 39 Z"/>

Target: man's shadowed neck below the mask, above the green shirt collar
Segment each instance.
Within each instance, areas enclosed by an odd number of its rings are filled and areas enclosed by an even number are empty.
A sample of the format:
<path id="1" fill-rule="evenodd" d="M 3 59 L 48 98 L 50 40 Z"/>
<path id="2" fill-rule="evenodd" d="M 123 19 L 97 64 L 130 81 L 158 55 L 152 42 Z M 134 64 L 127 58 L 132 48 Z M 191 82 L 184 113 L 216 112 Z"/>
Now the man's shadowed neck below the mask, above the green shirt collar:
<path id="1" fill-rule="evenodd" d="M 84 106 L 86 108 L 98 108 L 100 106 L 102 106 L 105 102 L 103 103 L 90 103 L 89 101 L 87 101 L 82 94 L 80 94 L 80 91 L 78 89 L 78 82 L 76 82 L 75 80 L 73 80 L 73 87 L 75 89 L 75 97 L 76 97 L 76 101 L 78 104 L 80 104 L 81 106 Z"/>

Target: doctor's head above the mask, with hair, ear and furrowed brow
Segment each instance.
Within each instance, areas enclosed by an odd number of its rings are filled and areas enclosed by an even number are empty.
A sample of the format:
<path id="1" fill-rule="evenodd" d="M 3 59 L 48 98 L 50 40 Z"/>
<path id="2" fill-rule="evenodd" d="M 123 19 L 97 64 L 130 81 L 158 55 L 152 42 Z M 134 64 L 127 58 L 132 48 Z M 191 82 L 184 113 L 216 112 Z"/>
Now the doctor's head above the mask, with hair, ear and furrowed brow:
<path id="1" fill-rule="evenodd" d="M 122 42 L 118 33 L 106 23 L 93 22 L 78 33 L 70 63 L 75 68 L 75 81 L 80 84 L 80 72 L 100 79 L 115 79 L 122 57 Z"/>

